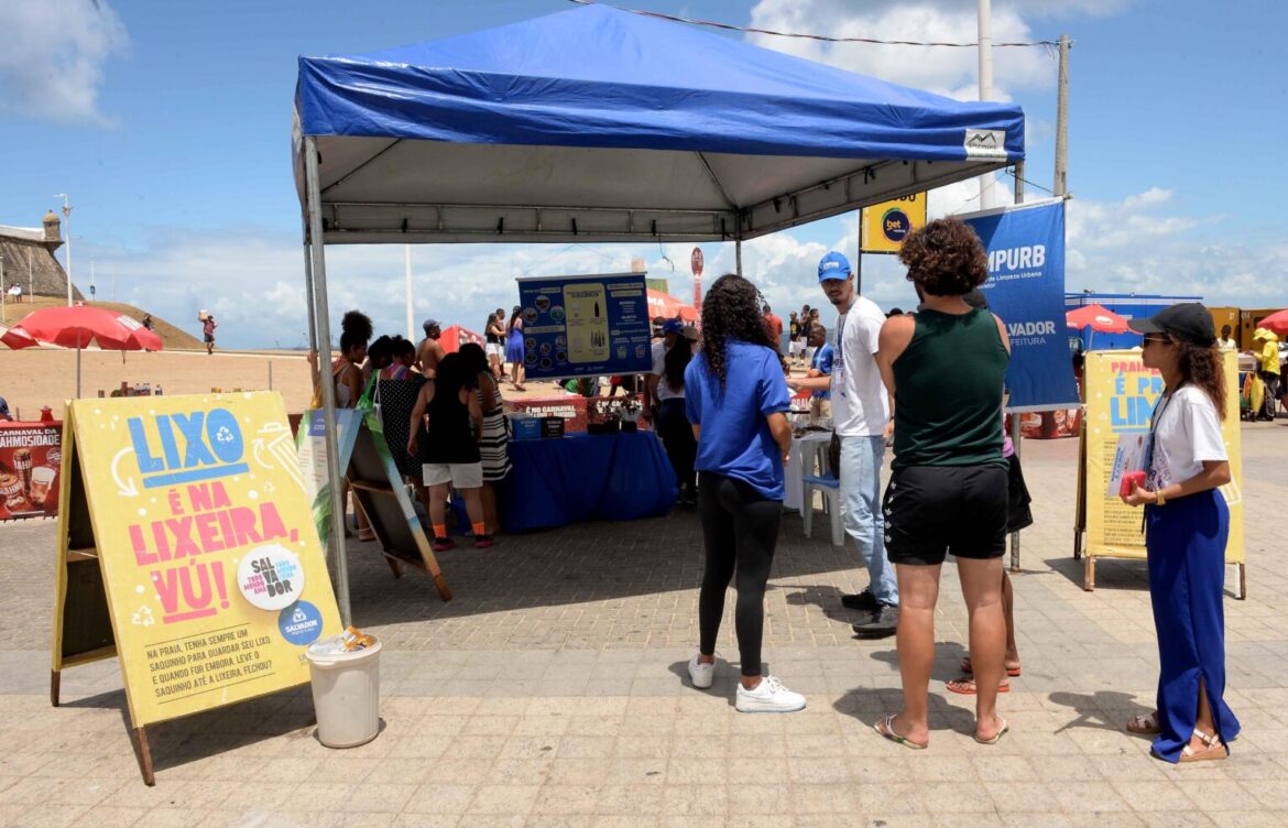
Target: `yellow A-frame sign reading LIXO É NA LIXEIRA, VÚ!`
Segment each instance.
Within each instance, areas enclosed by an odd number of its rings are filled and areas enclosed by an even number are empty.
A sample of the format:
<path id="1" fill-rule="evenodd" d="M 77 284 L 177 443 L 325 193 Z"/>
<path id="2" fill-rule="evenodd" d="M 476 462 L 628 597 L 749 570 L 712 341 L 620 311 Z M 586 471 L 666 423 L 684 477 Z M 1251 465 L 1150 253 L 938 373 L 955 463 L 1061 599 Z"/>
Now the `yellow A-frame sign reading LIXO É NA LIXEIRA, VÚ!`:
<path id="1" fill-rule="evenodd" d="M 82 399 L 64 429 L 55 675 L 115 645 L 135 728 L 307 682 L 341 627 L 281 395 Z M 103 599 L 115 641 L 77 658 Z"/>

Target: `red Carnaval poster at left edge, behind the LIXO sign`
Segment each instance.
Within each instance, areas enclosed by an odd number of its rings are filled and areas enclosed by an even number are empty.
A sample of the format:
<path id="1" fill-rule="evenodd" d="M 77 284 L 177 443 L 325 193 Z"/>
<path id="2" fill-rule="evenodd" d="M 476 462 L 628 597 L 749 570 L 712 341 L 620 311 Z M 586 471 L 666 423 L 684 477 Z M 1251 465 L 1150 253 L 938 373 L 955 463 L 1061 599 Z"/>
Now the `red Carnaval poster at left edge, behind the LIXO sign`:
<path id="1" fill-rule="evenodd" d="M 62 422 L 0 422 L 0 520 L 58 514 Z"/>

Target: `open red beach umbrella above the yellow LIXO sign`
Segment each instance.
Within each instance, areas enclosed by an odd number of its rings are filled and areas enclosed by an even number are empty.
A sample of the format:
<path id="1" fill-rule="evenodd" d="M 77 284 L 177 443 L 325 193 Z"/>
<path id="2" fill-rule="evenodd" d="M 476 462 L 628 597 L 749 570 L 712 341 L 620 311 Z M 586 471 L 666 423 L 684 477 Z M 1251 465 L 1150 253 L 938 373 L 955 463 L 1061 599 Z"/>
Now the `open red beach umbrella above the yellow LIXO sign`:
<path id="1" fill-rule="evenodd" d="M 0 336 L 9 348 L 61 345 L 76 349 L 76 395 L 80 397 L 80 352 L 97 343 L 103 350 L 161 350 L 161 337 L 135 319 L 106 308 L 85 305 L 43 308 L 23 317 Z"/>

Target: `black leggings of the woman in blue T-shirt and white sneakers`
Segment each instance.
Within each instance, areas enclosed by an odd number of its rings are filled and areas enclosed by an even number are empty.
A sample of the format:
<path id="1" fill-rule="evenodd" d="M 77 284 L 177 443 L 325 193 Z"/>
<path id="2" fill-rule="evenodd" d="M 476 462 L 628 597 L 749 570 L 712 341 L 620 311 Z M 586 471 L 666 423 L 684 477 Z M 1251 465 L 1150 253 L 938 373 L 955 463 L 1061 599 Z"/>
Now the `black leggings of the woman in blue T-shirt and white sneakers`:
<path id="1" fill-rule="evenodd" d="M 738 569 L 734 631 L 742 675 L 760 675 L 760 641 L 765 626 L 765 583 L 774 561 L 783 502 L 765 500 L 756 489 L 711 471 L 699 475 L 698 515 L 707 547 L 707 567 L 698 595 L 698 652 L 716 652 L 724 595 Z"/>

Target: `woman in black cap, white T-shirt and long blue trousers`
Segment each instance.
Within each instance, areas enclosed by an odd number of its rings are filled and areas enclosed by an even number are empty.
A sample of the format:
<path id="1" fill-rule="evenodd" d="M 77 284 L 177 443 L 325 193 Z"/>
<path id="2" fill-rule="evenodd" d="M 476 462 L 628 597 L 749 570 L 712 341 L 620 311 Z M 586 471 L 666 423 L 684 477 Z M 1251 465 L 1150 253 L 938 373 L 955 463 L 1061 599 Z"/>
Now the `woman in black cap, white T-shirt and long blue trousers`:
<path id="1" fill-rule="evenodd" d="M 1151 734 L 1168 762 L 1229 756 L 1239 720 L 1225 703 L 1225 542 L 1230 482 L 1221 434 L 1225 372 L 1212 315 L 1198 303 L 1132 319 L 1145 335 L 1145 367 L 1163 375 L 1150 424 L 1145 487 L 1123 497 L 1145 506 L 1149 597 L 1158 632 L 1158 710 L 1127 722 Z"/>

